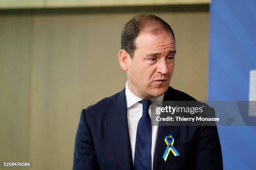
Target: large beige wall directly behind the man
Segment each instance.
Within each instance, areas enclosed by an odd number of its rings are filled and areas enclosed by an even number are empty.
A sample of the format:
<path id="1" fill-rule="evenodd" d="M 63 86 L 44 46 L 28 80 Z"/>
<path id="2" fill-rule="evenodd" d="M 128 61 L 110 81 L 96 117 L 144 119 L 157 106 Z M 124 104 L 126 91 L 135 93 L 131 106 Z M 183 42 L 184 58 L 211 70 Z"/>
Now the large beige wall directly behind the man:
<path id="1" fill-rule="evenodd" d="M 126 75 L 117 57 L 120 32 L 140 11 L 159 15 L 174 29 L 177 55 L 171 85 L 205 100 L 206 9 L 1 13 L 0 160 L 31 160 L 30 170 L 71 169 L 80 111 L 125 86 Z"/>

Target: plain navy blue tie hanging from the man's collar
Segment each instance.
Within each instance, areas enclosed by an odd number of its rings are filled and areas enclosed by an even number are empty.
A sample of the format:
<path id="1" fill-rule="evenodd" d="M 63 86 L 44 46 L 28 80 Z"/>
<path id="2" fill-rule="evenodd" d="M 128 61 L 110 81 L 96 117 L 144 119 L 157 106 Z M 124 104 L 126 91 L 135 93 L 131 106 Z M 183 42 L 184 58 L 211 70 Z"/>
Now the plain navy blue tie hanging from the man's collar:
<path id="1" fill-rule="evenodd" d="M 143 112 L 138 122 L 134 152 L 134 170 L 151 170 L 152 126 L 148 114 L 150 100 L 141 100 Z"/>

